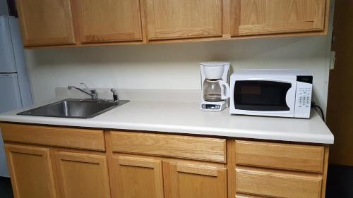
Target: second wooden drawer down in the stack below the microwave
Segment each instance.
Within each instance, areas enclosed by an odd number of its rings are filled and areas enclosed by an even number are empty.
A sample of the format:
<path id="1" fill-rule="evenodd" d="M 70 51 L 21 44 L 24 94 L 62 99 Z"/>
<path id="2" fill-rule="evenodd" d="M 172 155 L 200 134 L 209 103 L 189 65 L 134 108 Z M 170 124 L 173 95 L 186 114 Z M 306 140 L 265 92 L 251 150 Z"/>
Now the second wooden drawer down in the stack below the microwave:
<path id="1" fill-rule="evenodd" d="M 268 171 L 260 168 L 237 168 L 236 178 L 236 190 L 239 193 L 265 197 L 318 198 L 321 196 L 321 175 Z"/>

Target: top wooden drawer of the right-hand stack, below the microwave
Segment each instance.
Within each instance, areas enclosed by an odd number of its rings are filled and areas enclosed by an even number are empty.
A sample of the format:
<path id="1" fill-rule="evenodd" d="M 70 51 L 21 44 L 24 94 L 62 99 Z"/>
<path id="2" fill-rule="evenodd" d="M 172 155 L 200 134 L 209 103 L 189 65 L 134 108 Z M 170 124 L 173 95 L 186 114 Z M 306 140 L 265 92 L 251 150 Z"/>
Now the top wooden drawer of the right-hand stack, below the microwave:
<path id="1" fill-rule="evenodd" d="M 323 172 L 324 147 L 236 141 L 238 165 Z"/>

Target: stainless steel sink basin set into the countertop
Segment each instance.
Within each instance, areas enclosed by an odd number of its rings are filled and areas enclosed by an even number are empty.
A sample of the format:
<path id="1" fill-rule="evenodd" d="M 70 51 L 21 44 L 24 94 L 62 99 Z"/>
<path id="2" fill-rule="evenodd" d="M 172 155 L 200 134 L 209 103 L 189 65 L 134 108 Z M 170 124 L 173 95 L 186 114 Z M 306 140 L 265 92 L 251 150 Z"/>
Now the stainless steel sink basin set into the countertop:
<path id="1" fill-rule="evenodd" d="M 117 106 L 126 104 L 128 100 L 103 101 L 85 99 L 65 99 L 35 109 L 17 113 L 24 116 L 44 116 L 59 118 L 93 118 Z"/>

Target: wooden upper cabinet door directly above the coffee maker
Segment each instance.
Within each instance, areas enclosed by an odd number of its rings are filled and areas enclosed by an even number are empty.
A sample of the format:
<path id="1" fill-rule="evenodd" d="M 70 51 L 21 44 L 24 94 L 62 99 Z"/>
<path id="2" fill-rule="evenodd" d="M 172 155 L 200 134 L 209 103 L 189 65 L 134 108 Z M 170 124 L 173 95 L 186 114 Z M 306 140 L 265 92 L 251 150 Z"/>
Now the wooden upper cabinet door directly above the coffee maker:
<path id="1" fill-rule="evenodd" d="M 149 39 L 222 36 L 222 0 L 145 0 Z"/>

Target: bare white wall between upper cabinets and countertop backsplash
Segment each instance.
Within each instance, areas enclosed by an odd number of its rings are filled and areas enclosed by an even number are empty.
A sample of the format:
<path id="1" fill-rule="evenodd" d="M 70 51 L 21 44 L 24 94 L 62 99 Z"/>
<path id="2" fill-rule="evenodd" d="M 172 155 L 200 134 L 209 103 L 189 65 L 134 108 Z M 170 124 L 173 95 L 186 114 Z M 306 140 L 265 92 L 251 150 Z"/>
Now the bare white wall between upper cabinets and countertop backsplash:
<path id="1" fill-rule="evenodd" d="M 198 63 L 230 61 L 241 68 L 304 68 L 314 75 L 314 93 L 326 104 L 329 37 L 247 39 L 29 50 L 35 101 L 54 98 L 55 87 L 79 85 L 127 89 L 200 89 Z"/>

